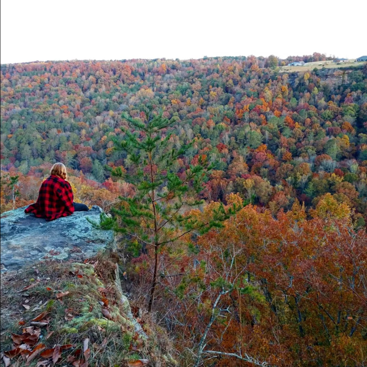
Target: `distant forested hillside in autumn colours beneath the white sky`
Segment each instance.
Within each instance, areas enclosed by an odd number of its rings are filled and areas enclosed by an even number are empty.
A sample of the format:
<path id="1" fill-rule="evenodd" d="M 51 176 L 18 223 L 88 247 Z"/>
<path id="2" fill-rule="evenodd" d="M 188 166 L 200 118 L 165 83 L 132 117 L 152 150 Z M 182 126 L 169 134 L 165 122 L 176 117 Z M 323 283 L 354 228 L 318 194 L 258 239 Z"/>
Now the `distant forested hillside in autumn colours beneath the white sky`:
<path id="1" fill-rule="evenodd" d="M 286 62 L 300 59 L 325 57 Z M 29 181 L 22 175 L 43 177 L 61 161 L 75 170 L 74 183 L 84 184 L 84 192 L 115 187 L 112 192 L 128 195 L 128 185 L 105 182 L 106 165 L 129 167 L 112 139 L 123 135 L 122 112 L 139 117 L 150 104 L 176 117 L 170 131 L 176 147 L 194 141 L 180 160 L 182 171 L 202 154 L 217 162 L 202 198 L 225 202 L 238 192 L 276 213 L 296 199 L 311 207 L 329 192 L 355 208 L 363 224 L 366 67 L 330 78 L 321 69 L 279 73 L 281 63 L 244 57 L 2 65 L 2 170 L 19 172 L 22 183 Z M 27 182 L 17 200 L 36 198 L 39 182 L 35 188 L 29 187 L 35 180 Z M 89 203 L 108 196 L 89 191 L 83 197 Z M 3 202 L 9 198 L 3 193 Z"/>

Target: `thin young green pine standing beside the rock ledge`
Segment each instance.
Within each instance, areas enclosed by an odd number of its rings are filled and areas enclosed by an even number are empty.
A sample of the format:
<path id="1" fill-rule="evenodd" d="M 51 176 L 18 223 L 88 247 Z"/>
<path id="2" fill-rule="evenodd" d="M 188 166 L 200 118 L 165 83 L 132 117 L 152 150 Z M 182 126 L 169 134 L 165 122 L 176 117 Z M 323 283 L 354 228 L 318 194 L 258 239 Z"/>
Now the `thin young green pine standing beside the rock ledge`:
<path id="1" fill-rule="evenodd" d="M 159 253 L 183 235 L 197 230 L 203 233 L 221 222 L 231 213 L 221 205 L 214 217 L 199 222 L 193 216 L 185 215 L 186 209 L 199 205 L 198 193 L 208 165 L 206 156 L 200 156 L 198 164 L 190 165 L 185 174 L 179 175 L 177 161 L 190 147 L 181 146 L 176 150 L 170 141 L 167 128 L 175 121 L 163 114 L 146 111 L 144 119 L 134 119 L 127 114 L 122 117 L 129 129 L 123 129 L 125 137 L 115 140 L 115 149 L 127 153 L 125 163 L 128 173 L 121 167 L 112 170 L 112 176 L 123 177 L 135 186 L 134 197 L 120 197 L 121 202 L 113 208 L 114 217 L 101 216 L 100 227 L 114 228 L 127 234 L 130 241 L 145 248 L 154 256 L 154 270 L 151 280 L 148 310 L 152 310 L 159 269 Z M 238 209 L 233 205 L 233 212 Z M 196 218 L 196 217 L 195 217 Z"/>

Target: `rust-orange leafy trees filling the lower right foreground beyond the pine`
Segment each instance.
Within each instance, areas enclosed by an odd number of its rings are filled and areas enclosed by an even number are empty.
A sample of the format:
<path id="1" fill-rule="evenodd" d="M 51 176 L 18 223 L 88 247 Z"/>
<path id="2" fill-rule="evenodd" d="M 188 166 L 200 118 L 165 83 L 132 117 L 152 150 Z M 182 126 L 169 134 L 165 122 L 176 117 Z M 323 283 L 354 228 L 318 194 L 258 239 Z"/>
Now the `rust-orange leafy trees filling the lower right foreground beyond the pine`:
<path id="1" fill-rule="evenodd" d="M 191 215 L 210 218 L 218 205 Z M 331 195 L 312 216 L 297 202 L 277 218 L 248 205 L 174 254 L 160 299 L 194 365 L 213 356 L 217 366 L 362 365 L 366 232 Z"/>

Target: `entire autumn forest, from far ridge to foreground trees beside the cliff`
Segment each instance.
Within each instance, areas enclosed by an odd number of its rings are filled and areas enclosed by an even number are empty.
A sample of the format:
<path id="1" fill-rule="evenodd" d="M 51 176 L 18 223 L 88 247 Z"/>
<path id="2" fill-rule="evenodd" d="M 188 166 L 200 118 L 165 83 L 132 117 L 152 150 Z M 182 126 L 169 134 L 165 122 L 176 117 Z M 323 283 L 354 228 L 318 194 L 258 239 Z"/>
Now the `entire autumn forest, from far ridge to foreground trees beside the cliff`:
<path id="1" fill-rule="evenodd" d="M 322 60 L 1 65 L 1 211 L 64 163 L 179 365 L 366 365 L 367 64 Z"/>

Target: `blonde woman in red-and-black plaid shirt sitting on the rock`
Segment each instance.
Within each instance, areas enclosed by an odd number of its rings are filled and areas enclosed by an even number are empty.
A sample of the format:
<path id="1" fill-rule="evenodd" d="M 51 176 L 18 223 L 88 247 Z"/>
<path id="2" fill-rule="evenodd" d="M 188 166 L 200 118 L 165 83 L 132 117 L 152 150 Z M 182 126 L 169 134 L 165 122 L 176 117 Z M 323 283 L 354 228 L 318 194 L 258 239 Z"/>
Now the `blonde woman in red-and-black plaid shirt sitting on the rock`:
<path id="1" fill-rule="evenodd" d="M 87 205 L 73 202 L 71 186 L 66 180 L 66 167 L 62 163 L 55 163 L 50 176 L 42 182 L 37 202 L 31 204 L 24 212 L 51 221 L 67 217 L 74 212 L 88 211 Z"/>

